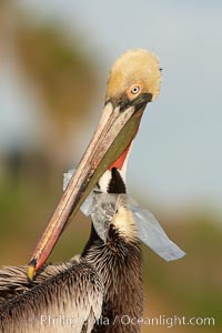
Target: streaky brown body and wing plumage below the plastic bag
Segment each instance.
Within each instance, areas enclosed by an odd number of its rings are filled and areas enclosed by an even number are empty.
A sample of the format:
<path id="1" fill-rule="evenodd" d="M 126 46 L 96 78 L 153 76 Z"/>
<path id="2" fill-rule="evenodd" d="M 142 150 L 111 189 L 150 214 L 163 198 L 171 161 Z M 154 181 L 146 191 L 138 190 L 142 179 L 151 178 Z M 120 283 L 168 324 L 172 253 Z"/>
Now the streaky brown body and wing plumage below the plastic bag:
<path id="1" fill-rule="evenodd" d="M 121 319 L 142 315 L 141 270 L 137 236 L 125 239 L 111 224 L 104 244 L 92 225 L 80 258 L 44 265 L 33 282 L 27 266 L 0 271 L 0 332 L 139 332 Z"/>

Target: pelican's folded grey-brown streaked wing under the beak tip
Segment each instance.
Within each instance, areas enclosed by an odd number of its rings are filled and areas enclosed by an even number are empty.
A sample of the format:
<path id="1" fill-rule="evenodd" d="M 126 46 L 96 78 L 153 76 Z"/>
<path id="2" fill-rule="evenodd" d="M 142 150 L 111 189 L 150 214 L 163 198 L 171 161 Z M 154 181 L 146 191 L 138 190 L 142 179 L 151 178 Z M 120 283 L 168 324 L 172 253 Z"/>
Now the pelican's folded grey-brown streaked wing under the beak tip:
<path id="1" fill-rule="evenodd" d="M 47 265 L 32 284 L 26 266 L 1 270 L 0 295 L 0 332 L 83 333 L 101 315 L 103 284 L 91 264 L 75 259 Z"/>

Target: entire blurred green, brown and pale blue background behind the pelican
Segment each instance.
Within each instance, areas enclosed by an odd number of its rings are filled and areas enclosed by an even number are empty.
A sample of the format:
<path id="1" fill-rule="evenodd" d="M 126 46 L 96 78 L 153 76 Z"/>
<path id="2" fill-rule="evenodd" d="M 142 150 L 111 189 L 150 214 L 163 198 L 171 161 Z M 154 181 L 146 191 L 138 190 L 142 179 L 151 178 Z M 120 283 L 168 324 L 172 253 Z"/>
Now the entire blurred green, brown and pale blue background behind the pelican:
<path id="1" fill-rule="evenodd" d="M 221 9 L 218 1 L 0 2 L 0 264 L 29 261 L 62 173 L 99 120 L 113 60 L 151 48 L 163 59 L 163 89 L 143 117 L 129 191 L 188 254 L 167 263 L 143 249 L 144 316 L 214 317 L 214 326 L 171 330 L 221 331 Z M 82 250 L 90 221 L 81 213 L 74 221 L 50 260 Z"/>

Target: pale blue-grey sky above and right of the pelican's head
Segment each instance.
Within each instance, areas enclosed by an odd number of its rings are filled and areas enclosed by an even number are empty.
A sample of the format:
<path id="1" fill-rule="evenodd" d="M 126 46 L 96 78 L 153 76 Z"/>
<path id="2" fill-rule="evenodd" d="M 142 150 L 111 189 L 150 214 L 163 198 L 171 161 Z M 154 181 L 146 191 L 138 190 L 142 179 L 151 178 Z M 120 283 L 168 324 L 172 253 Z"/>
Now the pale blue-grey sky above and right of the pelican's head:
<path id="1" fill-rule="evenodd" d="M 145 48 L 157 53 L 162 89 L 147 108 L 134 142 L 130 191 L 141 188 L 151 201 L 171 205 L 195 200 L 221 204 L 221 1 L 16 2 L 41 19 L 58 20 L 70 33 L 78 30 L 81 47 L 101 60 L 102 102 L 109 68 L 122 52 Z M 85 144 L 99 112 L 85 130 Z"/>

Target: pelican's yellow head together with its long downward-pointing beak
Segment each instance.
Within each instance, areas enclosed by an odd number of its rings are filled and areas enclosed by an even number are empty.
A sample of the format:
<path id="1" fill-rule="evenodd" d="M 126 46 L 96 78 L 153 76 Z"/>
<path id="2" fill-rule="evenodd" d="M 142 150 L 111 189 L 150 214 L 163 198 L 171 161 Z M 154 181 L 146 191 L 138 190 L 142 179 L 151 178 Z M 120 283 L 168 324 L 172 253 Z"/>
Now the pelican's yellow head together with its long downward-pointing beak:
<path id="1" fill-rule="evenodd" d="M 147 50 L 131 50 L 114 62 L 100 122 L 32 254 L 28 269 L 30 280 L 102 174 L 121 157 L 124 161 L 145 105 L 159 94 L 160 82 L 159 61 Z"/>

